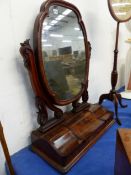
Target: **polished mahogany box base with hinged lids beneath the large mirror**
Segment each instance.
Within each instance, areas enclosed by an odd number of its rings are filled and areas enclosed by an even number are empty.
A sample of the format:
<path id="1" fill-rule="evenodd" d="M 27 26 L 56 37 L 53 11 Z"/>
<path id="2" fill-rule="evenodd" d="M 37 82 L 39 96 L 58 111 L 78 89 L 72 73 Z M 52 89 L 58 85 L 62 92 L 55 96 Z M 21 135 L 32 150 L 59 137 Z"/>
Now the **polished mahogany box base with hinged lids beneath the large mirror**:
<path id="1" fill-rule="evenodd" d="M 113 112 L 100 105 L 64 113 L 61 123 L 46 132 L 32 132 L 32 150 L 58 171 L 65 173 L 114 123 Z"/>

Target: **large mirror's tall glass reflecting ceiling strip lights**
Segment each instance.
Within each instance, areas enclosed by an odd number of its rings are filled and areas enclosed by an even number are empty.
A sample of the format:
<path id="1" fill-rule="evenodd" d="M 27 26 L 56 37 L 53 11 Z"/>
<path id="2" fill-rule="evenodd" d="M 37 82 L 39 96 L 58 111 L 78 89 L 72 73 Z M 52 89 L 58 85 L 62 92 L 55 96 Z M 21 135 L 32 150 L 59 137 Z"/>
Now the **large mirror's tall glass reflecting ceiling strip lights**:
<path id="1" fill-rule="evenodd" d="M 61 100 L 75 97 L 85 78 L 85 43 L 76 14 L 51 6 L 42 28 L 42 54 L 49 87 Z"/>

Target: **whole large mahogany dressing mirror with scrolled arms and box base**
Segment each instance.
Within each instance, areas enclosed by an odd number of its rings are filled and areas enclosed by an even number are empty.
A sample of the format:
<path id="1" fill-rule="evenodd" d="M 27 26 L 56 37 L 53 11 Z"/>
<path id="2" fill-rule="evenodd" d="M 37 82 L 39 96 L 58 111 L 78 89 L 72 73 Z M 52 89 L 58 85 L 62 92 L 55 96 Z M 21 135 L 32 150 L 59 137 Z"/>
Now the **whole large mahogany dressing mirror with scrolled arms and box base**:
<path id="1" fill-rule="evenodd" d="M 113 112 L 88 103 L 91 46 L 74 5 L 63 0 L 41 5 L 33 47 L 26 40 L 20 48 L 38 108 L 39 128 L 31 134 L 31 148 L 65 173 L 114 123 Z M 60 106 L 69 104 L 72 109 L 63 112 Z"/>

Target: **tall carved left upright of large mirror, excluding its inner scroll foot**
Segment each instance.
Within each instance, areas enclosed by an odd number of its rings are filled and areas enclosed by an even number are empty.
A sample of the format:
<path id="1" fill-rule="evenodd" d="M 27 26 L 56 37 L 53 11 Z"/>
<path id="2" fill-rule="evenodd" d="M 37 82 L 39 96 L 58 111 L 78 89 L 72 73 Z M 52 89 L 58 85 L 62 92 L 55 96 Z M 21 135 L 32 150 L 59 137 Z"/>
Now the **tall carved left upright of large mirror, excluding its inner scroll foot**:
<path id="1" fill-rule="evenodd" d="M 20 53 L 23 56 L 24 65 L 29 71 L 32 87 L 36 94 L 35 102 L 36 102 L 36 107 L 38 108 L 37 121 L 40 127 L 43 127 L 48 121 L 48 113 L 46 110 L 44 99 L 40 98 L 42 96 L 42 93 L 40 90 L 39 79 L 38 79 L 37 70 L 35 67 L 34 53 L 29 44 L 29 40 L 26 40 L 24 41 L 24 43 L 21 43 Z"/>

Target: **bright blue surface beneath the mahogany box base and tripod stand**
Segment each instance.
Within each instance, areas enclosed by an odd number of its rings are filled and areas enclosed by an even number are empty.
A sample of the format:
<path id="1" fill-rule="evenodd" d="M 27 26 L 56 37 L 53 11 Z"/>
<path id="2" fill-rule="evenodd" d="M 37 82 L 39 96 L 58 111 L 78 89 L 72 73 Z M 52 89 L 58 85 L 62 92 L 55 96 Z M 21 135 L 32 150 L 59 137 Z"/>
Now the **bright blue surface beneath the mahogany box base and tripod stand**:
<path id="1" fill-rule="evenodd" d="M 122 128 L 131 128 L 131 101 L 123 100 L 128 104 L 127 109 L 119 108 Z M 113 110 L 111 102 L 104 102 L 104 106 Z M 115 161 L 116 130 L 114 124 L 101 139 L 86 153 L 85 156 L 71 169 L 68 175 L 113 175 Z M 45 161 L 25 148 L 12 156 L 16 175 L 59 175 L 55 169 Z"/>

